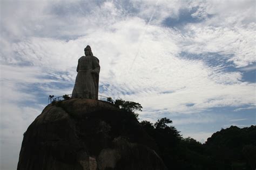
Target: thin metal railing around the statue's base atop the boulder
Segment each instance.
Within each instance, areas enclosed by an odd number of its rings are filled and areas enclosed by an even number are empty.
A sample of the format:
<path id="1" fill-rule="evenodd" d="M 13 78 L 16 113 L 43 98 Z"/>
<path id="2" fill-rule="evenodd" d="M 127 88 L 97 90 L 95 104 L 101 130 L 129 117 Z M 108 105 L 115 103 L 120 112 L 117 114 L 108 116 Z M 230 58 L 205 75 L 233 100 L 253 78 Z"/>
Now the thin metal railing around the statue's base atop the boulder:
<path id="1" fill-rule="evenodd" d="M 73 95 L 73 97 L 72 97 Z M 95 94 L 91 93 L 77 93 L 77 94 L 69 94 L 69 95 L 63 95 L 63 96 L 58 96 L 53 98 L 54 96 L 49 96 L 48 97 L 48 104 L 52 102 L 58 102 L 58 101 L 63 101 L 63 100 L 69 100 L 71 98 L 89 98 L 89 99 L 95 99 L 98 101 L 105 101 L 114 104 L 114 101 L 112 100 L 111 97 L 106 97 L 102 95 L 96 96 Z"/>

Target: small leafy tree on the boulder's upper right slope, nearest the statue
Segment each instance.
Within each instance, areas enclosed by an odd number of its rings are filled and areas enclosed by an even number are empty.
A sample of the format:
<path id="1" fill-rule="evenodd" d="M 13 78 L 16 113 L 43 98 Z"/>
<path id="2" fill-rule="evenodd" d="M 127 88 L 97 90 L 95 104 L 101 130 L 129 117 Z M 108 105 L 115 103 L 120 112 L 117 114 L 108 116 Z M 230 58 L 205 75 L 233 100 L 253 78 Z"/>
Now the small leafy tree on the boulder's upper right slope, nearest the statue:
<path id="1" fill-rule="evenodd" d="M 142 111 L 142 105 L 140 105 L 139 103 L 131 102 L 131 101 L 124 101 L 124 100 L 122 100 L 122 98 L 117 99 L 114 102 L 114 105 L 116 105 L 116 107 L 118 107 L 121 110 L 131 113 L 137 119 L 139 117 L 139 114 L 137 114 L 135 111 Z"/>

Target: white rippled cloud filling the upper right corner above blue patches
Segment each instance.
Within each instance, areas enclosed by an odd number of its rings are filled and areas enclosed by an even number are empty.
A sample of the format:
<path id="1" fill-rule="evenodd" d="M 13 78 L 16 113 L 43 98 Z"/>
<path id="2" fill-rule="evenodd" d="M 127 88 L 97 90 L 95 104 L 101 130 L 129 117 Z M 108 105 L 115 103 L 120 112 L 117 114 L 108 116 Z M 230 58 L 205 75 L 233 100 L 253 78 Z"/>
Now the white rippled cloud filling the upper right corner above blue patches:
<path id="1" fill-rule="evenodd" d="M 188 24 L 187 37 L 192 38 L 186 50 L 192 53 L 215 52 L 227 55 L 236 67 L 255 62 L 255 17 L 253 1 L 196 1 L 192 6 L 211 17 L 198 24 Z M 216 8 L 218 6 L 218 8 Z"/>

